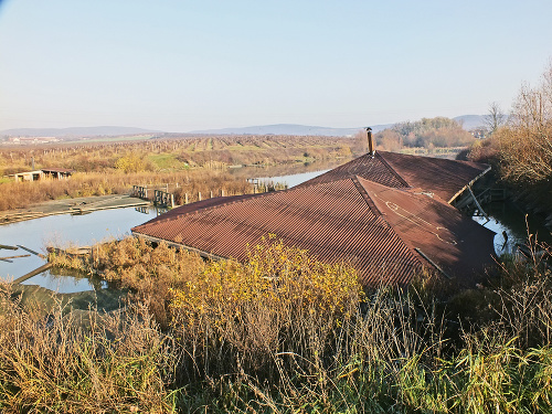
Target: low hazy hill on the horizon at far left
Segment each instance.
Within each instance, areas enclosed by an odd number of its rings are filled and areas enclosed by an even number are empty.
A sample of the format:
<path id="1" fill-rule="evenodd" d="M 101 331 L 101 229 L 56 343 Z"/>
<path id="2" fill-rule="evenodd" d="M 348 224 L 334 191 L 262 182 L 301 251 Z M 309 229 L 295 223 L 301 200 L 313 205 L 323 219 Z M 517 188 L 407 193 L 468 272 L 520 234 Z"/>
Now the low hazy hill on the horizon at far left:
<path id="1" fill-rule="evenodd" d="M 160 130 L 132 127 L 15 128 L 0 131 L 11 137 L 116 137 L 119 135 L 163 134 Z"/>

